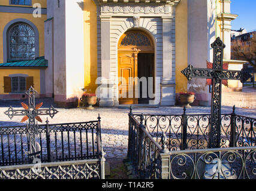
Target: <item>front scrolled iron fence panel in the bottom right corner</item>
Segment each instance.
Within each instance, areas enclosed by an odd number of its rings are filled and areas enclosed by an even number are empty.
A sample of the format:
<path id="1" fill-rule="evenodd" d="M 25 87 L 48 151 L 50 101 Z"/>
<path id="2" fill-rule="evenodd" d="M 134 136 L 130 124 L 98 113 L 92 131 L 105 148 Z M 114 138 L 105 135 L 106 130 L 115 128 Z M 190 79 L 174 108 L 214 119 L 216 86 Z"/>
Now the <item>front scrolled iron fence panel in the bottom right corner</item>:
<path id="1" fill-rule="evenodd" d="M 170 152 L 170 179 L 255 179 L 256 147 Z"/>

